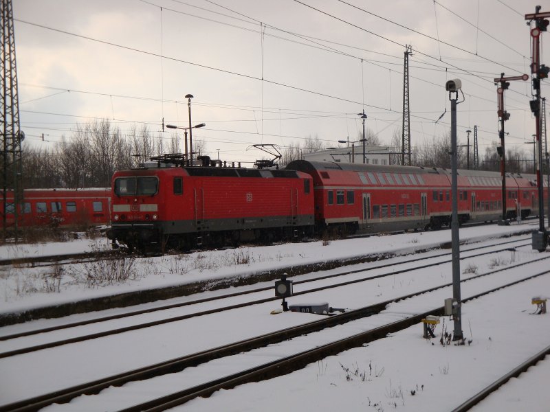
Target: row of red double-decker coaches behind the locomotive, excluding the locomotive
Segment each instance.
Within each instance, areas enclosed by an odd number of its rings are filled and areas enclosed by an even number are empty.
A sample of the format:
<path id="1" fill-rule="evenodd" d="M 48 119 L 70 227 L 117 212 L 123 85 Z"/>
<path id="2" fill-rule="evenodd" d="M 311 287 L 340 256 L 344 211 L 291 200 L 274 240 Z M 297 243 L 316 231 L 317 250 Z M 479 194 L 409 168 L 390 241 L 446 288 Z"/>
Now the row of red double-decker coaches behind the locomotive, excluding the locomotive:
<path id="1" fill-rule="evenodd" d="M 441 168 L 293 161 L 287 169 L 314 181 L 318 231 L 371 233 L 438 229 L 450 225 L 450 171 Z M 536 214 L 536 191 L 529 176 L 507 174 L 507 218 Z M 459 220 L 499 220 L 500 174 L 459 170 Z M 527 204 L 527 198 L 529 203 Z"/>

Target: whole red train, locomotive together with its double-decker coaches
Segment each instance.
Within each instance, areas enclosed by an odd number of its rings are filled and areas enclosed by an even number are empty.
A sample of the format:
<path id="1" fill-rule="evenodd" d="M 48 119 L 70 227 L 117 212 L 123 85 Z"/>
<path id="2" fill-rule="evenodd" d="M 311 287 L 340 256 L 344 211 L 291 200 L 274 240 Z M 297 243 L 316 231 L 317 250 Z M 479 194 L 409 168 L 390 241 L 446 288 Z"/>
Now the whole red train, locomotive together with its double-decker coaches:
<path id="1" fill-rule="evenodd" d="M 284 169 L 239 168 L 201 157 L 156 157 L 112 179 L 113 247 L 165 251 L 449 226 L 444 168 L 297 160 Z M 507 219 L 538 215 L 536 176 L 507 174 Z M 545 184 L 545 197 L 548 187 Z M 461 224 L 500 220 L 498 172 L 459 170 Z"/>

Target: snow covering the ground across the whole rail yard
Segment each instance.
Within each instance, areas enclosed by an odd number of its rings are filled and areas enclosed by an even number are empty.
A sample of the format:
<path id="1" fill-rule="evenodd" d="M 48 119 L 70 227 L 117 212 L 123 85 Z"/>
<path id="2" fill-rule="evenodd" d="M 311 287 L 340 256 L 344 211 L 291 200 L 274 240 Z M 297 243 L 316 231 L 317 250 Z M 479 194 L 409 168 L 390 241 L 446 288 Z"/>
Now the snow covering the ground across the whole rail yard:
<path id="1" fill-rule="evenodd" d="M 494 225 L 461 228 L 460 235 L 461 240 L 474 242 L 525 229 L 529 229 L 527 224 L 509 227 Z M 151 258 L 139 265 L 142 267 L 137 268 L 138 275 L 133 279 L 121 284 L 94 288 L 78 282 L 78 277 L 74 273 L 68 274 L 69 270 L 66 270 L 59 288 L 50 293 L 45 293 L 38 287 L 35 287 L 34 291 L 28 288 L 23 292 L 21 287 L 25 282 L 34 282 L 40 286 L 43 277 L 37 273 L 45 270 L 44 268 L 11 268 L 2 273 L 0 287 L 4 299 L 0 304 L 0 311 L 12 312 L 59 301 L 74 301 L 139 288 L 253 273 L 265 268 L 289 264 L 348 258 L 360 253 L 395 253 L 397 250 L 406 253 L 412 249 L 426 249 L 444 241 L 450 241 L 450 231 L 373 236 L 366 239 L 333 241 L 326 246 L 322 242 L 283 244 L 273 247 L 200 252 L 185 255 L 184 258 Z M 101 242 L 90 244 L 88 241 L 80 240 L 69 244 L 57 244 L 52 246 L 54 250 L 52 253 L 78 251 L 79 248 L 82 250 L 90 247 L 108 247 L 106 241 L 104 244 Z M 8 254 L 18 256 L 25 253 L 45 254 L 49 253 L 49 247 L 43 246 L 41 251 L 36 251 L 36 247 L 28 247 L 28 249 L 8 247 L 0 251 L 0 256 L 6 258 Z M 510 252 L 507 253 L 507 256 L 509 255 L 511 255 Z M 542 257 L 542 255 L 544 253 L 534 252 L 526 247 L 519 249 L 514 258 L 521 261 Z M 470 263 L 477 265 L 480 273 L 486 271 L 485 264 L 481 264 L 480 260 L 474 258 Z M 503 260 L 503 264 L 509 263 Z M 540 263 L 533 268 L 516 269 L 515 273 L 524 275 L 527 271 L 541 271 L 548 267 L 548 263 Z M 439 283 L 450 282 L 449 266 L 436 269 L 438 270 L 439 273 L 432 275 L 441 279 Z M 514 278 L 514 271 L 503 276 Z M 418 275 L 412 279 L 409 278 L 408 282 L 395 278 L 388 285 L 380 282 L 377 290 L 363 291 L 360 286 L 351 286 L 347 290 L 331 292 L 329 299 L 333 306 L 342 306 L 339 305 L 342 302 L 351 302 L 351 306 L 355 306 L 357 304 L 353 303 L 353 299 L 360 301 L 362 296 L 366 303 L 372 303 L 372 299 L 377 295 L 384 294 L 384 298 L 386 295 L 389 298 L 391 293 L 403 294 L 401 292 L 410 284 L 427 288 L 433 286 L 433 282 L 433 278 L 424 279 L 419 278 Z M 20 286 L 19 292 L 17 284 Z M 465 284 L 463 297 L 472 293 L 469 287 L 471 286 Z M 398 290 L 395 290 L 396 288 Z M 451 293 L 450 290 L 443 290 L 441 296 L 447 297 Z M 193 400 L 177 409 L 181 411 L 333 411 L 335 409 L 377 412 L 450 411 L 500 375 L 549 345 L 550 314 L 531 315 L 534 310 L 531 297 L 535 295 L 550 295 L 550 275 L 538 277 L 464 304 L 463 330 L 465 336 L 472 339 L 470 345 L 443 347 L 439 344 L 439 334 L 443 325 L 438 325 L 436 329 L 438 339 L 432 339 L 432 341 L 423 339 L 421 325 L 415 325 L 386 339 L 326 358 L 293 374 L 265 382 L 242 385 L 229 391 L 219 391 L 210 398 Z M 318 296 L 318 299 L 326 299 L 326 296 Z M 421 297 L 416 299 L 419 306 L 428 305 L 428 302 L 423 301 Z M 410 305 L 410 300 L 408 299 L 406 304 Z M 437 301 L 441 306 L 442 298 L 438 297 Z M 406 315 L 404 307 L 399 304 L 391 305 L 383 316 L 399 319 Z M 410 308 L 410 306 L 407 307 Z M 32 374 L 38 376 L 53 374 L 51 379 L 48 379 L 51 382 L 67 380 L 65 372 L 69 368 L 64 365 L 65 362 L 77 365 L 76 369 L 80 370 L 79 378 L 86 381 L 91 380 L 95 377 L 94 374 L 98 373 L 98 367 L 94 365 L 104 364 L 106 361 L 109 363 L 109 359 L 119 361 L 121 354 L 126 354 L 127 366 L 133 369 L 142 364 L 153 363 L 156 359 L 172 358 L 175 354 L 181 355 L 203 349 L 204 345 L 215 344 L 216 340 L 220 341 L 222 337 L 225 340 L 237 341 L 248 335 L 261 334 L 262 328 L 267 330 L 268 327 L 273 326 L 284 327 L 289 324 L 303 323 L 310 317 L 316 316 L 291 312 L 270 315 L 270 310 L 274 308 L 278 308 L 278 303 L 263 304 L 252 310 L 232 311 L 232 313 L 221 314 L 219 317 L 212 317 L 208 322 L 195 320 L 173 323 L 157 328 L 154 332 L 140 332 L 140 334 L 129 332 L 121 336 L 101 339 L 96 343 L 80 343 L 73 345 L 70 361 L 61 357 L 66 356 L 67 352 L 59 348 L 37 352 L 32 356 L 17 356 L 0 362 L 0 388 L 3 388 L 0 389 L 0 399 L 12 398 L 14 391 L 25 393 L 28 389 L 17 388 L 17 385 L 31 387 L 33 381 L 28 380 L 28 377 Z M 375 319 L 367 321 L 361 328 L 372 327 L 373 325 L 369 326 L 369 322 L 374 321 Z M 452 330 L 448 319 L 445 319 L 445 323 L 448 330 Z M 146 336 L 147 334 L 154 334 L 154 336 Z M 300 345 L 304 339 L 294 339 L 290 345 Z M 265 358 L 266 361 L 272 360 L 274 356 L 284 354 L 287 346 L 285 343 L 273 345 L 267 351 L 257 352 L 255 356 Z M 170 387 L 181 387 L 184 380 L 198 383 L 199 379 L 208 380 L 215 377 L 209 376 L 208 365 L 190 369 L 193 370 L 158 378 L 156 381 L 158 392 L 161 393 Z M 529 373 L 509 382 L 476 410 L 549 411 L 550 391 L 544 388 L 550 378 L 550 365 L 545 361 L 531 369 L 535 369 L 536 374 Z M 48 380 L 45 380 L 47 385 L 52 385 L 51 382 L 47 382 Z M 121 390 L 126 393 L 126 401 L 139 402 L 142 393 L 151 391 L 151 388 L 144 389 L 144 385 L 145 382 L 125 385 Z M 154 393 L 157 390 L 153 388 Z M 109 391 L 114 392 L 117 389 L 107 389 L 104 392 Z M 84 397 L 47 410 L 93 411 L 116 410 L 121 407 L 114 401 L 107 401 L 108 396 L 101 399 L 94 401 L 93 396 Z"/>

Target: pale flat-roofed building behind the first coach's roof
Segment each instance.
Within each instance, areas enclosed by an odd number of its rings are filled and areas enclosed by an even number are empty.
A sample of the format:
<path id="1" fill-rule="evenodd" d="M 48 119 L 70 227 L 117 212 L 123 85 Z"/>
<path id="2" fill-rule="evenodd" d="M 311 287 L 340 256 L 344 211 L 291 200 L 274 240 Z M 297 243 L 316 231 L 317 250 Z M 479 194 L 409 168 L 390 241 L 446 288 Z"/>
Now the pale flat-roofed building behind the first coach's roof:
<path id="1" fill-rule="evenodd" d="M 389 165 L 391 151 L 388 146 L 365 146 L 365 161 L 368 165 Z M 363 146 L 329 148 L 318 152 L 304 153 L 304 160 L 336 161 L 337 163 L 363 163 Z"/>

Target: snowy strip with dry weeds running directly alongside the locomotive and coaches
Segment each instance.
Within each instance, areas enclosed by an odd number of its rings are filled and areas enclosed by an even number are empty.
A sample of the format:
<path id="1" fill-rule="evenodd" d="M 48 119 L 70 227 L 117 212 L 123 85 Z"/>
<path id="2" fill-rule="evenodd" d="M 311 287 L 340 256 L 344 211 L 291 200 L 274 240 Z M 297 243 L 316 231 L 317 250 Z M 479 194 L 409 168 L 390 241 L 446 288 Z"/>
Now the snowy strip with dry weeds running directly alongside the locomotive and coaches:
<path id="1" fill-rule="evenodd" d="M 511 226 L 483 226 L 462 228 L 461 241 L 476 242 L 495 236 L 536 229 L 533 224 Z M 146 288 L 162 288 L 206 279 L 221 279 L 236 275 L 249 275 L 267 269 L 281 268 L 313 262 L 352 258 L 373 253 L 410 253 L 450 242 L 450 230 L 404 233 L 394 236 L 335 240 L 323 242 L 288 243 L 269 247 L 240 247 L 220 251 L 136 260 L 126 282 L 87 281 L 94 268 L 90 265 L 28 268 L 0 266 L 0 313 L 19 312 L 30 308 L 50 306 L 125 293 Z M 48 244 L 20 244 L 0 247 L 0 259 L 27 256 L 79 253 L 109 249 L 109 240 L 74 240 Z"/>

